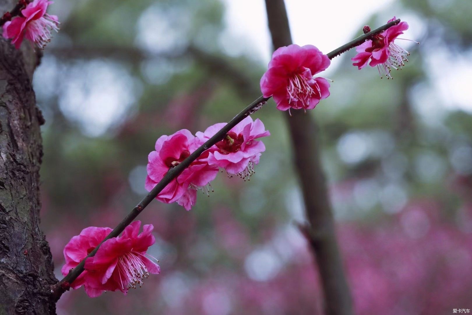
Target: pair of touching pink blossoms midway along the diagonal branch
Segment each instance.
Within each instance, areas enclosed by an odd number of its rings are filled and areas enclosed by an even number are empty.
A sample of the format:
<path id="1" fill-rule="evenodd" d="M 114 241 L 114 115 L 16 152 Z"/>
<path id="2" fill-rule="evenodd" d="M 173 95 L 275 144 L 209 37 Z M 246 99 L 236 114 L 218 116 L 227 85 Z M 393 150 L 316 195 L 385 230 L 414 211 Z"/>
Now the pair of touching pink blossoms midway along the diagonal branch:
<path id="1" fill-rule="evenodd" d="M 151 191 L 166 173 L 180 164 L 198 147 L 214 136 L 226 123 L 218 123 L 196 135 L 186 129 L 170 136 L 161 136 L 156 141 L 155 151 L 149 153 L 145 187 Z M 211 180 L 219 168 L 228 175 L 243 179 L 251 176 L 254 165 L 259 163 L 261 152 L 265 151 L 262 141 L 255 139 L 269 136 L 261 120 L 246 117 L 233 127 L 226 137 L 213 145 L 190 164 L 176 179 L 173 179 L 157 196 L 163 203 L 177 202 L 190 210 L 197 199 L 197 190 L 209 194 Z"/>

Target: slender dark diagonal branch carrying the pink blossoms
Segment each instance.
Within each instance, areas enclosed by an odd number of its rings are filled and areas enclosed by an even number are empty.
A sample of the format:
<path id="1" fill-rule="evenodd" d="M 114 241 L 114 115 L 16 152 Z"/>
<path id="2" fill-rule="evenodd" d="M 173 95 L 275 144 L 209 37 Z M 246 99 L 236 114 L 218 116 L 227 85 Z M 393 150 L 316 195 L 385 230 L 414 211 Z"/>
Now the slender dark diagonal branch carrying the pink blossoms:
<path id="1" fill-rule="evenodd" d="M 334 51 L 329 52 L 327 55 L 329 59 L 332 59 L 345 51 L 348 51 L 351 48 L 363 43 L 364 41 L 371 38 L 371 36 L 375 34 L 379 34 L 384 30 L 388 29 L 391 26 L 394 26 L 400 22 L 400 19 L 396 21 L 392 21 L 384 26 L 381 26 L 367 34 L 363 34 L 358 38 L 354 39 L 353 41 L 346 43 L 345 45 L 337 48 Z M 177 176 L 185 170 L 192 162 L 194 162 L 205 150 L 209 149 L 211 146 L 215 145 L 217 142 L 221 141 L 227 133 L 231 130 L 231 128 L 235 127 L 239 122 L 241 122 L 247 116 L 253 114 L 255 111 L 259 110 L 263 104 L 265 104 L 270 97 L 260 96 L 255 101 L 253 101 L 249 106 L 247 106 L 243 111 L 237 114 L 231 121 L 228 122 L 223 128 L 221 128 L 214 136 L 212 136 L 208 141 L 206 141 L 203 145 L 201 145 L 198 149 L 196 149 L 193 153 L 191 153 L 184 161 L 179 163 L 176 167 L 170 169 L 163 179 L 152 188 L 152 190 L 147 194 L 143 200 L 139 204 L 137 204 L 130 213 L 126 215 L 126 217 L 121 221 L 115 229 L 113 229 L 110 234 L 103 239 L 103 241 L 93 249 L 92 252 L 87 256 L 92 257 L 98 251 L 100 245 L 110 238 L 118 237 L 118 235 L 123 232 L 123 230 L 128 226 L 135 218 L 144 210 L 144 208 L 151 203 L 151 201 Z M 84 264 L 85 260 L 82 260 L 74 269 L 65 276 L 61 281 L 56 283 L 51 287 L 51 298 L 55 301 L 59 300 L 61 295 L 69 289 L 70 283 L 75 281 L 77 277 L 84 272 Z"/>

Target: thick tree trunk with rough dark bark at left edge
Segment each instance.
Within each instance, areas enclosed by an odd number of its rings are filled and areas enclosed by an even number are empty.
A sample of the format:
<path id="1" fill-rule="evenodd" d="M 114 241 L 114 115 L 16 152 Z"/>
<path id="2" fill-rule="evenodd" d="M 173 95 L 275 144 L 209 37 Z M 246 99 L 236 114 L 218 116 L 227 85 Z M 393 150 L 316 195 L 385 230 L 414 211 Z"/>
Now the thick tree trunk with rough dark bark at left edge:
<path id="1" fill-rule="evenodd" d="M 0 0 L 0 14 L 15 6 Z M 0 315 L 56 314 L 51 251 L 39 229 L 41 112 L 31 79 L 39 60 L 0 39 Z"/>

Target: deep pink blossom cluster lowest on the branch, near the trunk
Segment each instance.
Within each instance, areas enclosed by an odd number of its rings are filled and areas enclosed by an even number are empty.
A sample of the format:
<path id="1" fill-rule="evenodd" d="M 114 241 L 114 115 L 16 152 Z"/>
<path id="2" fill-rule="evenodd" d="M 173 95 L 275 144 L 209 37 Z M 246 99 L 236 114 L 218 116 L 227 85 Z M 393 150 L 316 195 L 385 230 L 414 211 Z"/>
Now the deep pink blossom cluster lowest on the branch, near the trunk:
<path id="1" fill-rule="evenodd" d="M 127 293 L 128 289 L 143 284 L 144 278 L 150 273 L 160 273 L 160 267 L 146 254 L 148 247 L 155 242 L 152 235 L 152 224 L 144 225 L 139 233 L 141 221 L 128 225 L 120 237 L 107 239 L 99 247 L 93 257 L 85 261 L 85 271 L 72 283 L 73 289 L 82 285 L 91 298 L 101 295 L 103 291 L 120 290 Z M 79 235 L 74 236 L 64 247 L 66 264 L 62 266 L 65 276 L 110 234 L 110 228 L 88 227 Z M 156 260 L 157 261 L 157 260 Z"/>

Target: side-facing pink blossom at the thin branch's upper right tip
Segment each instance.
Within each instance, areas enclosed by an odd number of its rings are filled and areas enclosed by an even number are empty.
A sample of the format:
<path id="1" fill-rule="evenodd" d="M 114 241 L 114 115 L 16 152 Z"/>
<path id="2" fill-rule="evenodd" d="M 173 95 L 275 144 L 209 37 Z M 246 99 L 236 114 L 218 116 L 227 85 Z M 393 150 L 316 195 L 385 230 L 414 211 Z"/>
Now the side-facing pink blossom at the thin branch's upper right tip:
<path id="1" fill-rule="evenodd" d="M 396 17 L 390 19 L 388 23 L 394 20 L 396 20 Z M 410 55 L 408 51 L 394 43 L 397 37 L 407 29 L 408 23 L 400 22 L 398 25 L 391 26 L 382 34 L 375 35 L 372 40 L 357 46 L 358 54 L 351 58 L 355 61 L 353 66 L 362 69 L 370 60 L 369 65 L 371 67 L 377 66 L 380 77 L 385 75 L 387 78 L 391 78 L 391 69 L 401 69 L 408 61 L 406 56 Z"/>

